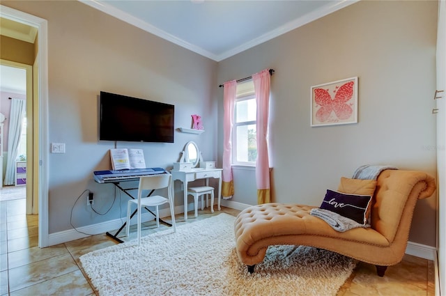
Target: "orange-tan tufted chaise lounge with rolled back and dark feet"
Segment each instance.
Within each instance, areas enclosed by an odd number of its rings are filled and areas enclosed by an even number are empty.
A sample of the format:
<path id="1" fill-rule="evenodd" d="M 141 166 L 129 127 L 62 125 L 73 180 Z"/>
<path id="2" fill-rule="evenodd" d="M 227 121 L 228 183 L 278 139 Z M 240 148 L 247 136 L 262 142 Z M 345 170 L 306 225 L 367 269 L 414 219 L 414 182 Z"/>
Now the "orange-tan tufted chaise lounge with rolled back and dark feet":
<path id="1" fill-rule="evenodd" d="M 306 245 L 334 251 L 376 265 L 379 276 L 406 251 L 417 199 L 436 190 L 435 180 L 420 171 L 385 170 L 376 180 L 370 228 L 338 232 L 309 215 L 314 206 L 266 203 L 246 208 L 235 222 L 236 249 L 249 272 L 271 245 Z M 322 198 L 321 198 L 322 199 Z"/>

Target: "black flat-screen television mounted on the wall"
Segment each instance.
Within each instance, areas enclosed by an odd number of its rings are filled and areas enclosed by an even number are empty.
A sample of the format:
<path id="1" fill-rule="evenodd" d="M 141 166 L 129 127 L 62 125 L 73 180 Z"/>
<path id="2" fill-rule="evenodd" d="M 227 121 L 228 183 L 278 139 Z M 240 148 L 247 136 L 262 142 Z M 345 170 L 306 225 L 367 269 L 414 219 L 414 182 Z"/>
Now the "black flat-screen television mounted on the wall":
<path id="1" fill-rule="evenodd" d="M 100 92 L 99 139 L 174 143 L 172 104 Z"/>

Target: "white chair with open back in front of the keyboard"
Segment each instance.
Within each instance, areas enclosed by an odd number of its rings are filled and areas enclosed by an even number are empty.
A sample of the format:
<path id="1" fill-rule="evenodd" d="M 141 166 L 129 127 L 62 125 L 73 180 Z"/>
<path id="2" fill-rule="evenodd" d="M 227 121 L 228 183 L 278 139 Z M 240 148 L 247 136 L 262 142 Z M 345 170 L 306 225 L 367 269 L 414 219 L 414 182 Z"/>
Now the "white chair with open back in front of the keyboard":
<path id="1" fill-rule="evenodd" d="M 153 176 L 144 176 L 139 179 L 139 187 L 138 187 L 138 198 L 130 199 L 127 205 L 127 236 L 130 232 L 130 210 L 132 208 L 132 204 L 137 205 L 137 224 L 138 224 L 138 244 L 141 243 L 141 208 L 143 207 L 155 207 L 155 215 L 156 215 L 156 226 L 160 227 L 160 213 L 158 211 L 158 207 L 163 205 L 164 203 L 169 203 L 170 206 L 170 215 L 172 218 L 172 226 L 174 227 L 174 232 L 176 231 L 175 225 L 175 212 L 174 212 L 174 199 L 172 198 L 172 176 L 170 173 L 164 173 L 162 175 L 153 175 Z M 144 189 L 152 190 L 152 189 L 162 189 L 167 188 L 167 196 L 160 195 L 152 195 L 147 197 L 142 197 L 142 191 Z"/>

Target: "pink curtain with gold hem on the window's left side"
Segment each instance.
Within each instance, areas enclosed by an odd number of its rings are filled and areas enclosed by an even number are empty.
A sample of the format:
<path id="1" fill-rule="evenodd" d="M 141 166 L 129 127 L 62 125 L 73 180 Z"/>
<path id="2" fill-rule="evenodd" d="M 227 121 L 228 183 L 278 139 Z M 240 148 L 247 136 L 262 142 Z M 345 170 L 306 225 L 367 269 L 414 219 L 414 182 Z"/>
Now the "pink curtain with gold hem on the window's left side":
<path id="1" fill-rule="evenodd" d="M 222 197 L 229 199 L 234 194 L 232 178 L 232 126 L 234 118 L 234 102 L 236 101 L 237 82 L 236 80 L 224 83 L 224 117 L 223 117 L 223 176 L 222 176 Z"/>

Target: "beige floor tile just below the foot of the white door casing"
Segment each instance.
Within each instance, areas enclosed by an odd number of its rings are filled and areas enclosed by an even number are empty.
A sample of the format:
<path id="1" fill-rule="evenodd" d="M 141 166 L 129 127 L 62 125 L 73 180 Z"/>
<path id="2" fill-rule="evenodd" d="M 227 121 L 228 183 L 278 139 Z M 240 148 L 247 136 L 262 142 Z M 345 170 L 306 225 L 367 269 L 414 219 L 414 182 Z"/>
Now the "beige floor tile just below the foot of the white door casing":
<path id="1" fill-rule="evenodd" d="M 22 249 L 8 253 L 8 266 L 11 269 L 63 254 L 69 254 L 64 244 L 57 244 L 47 248 L 32 247 Z"/>

